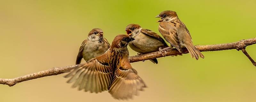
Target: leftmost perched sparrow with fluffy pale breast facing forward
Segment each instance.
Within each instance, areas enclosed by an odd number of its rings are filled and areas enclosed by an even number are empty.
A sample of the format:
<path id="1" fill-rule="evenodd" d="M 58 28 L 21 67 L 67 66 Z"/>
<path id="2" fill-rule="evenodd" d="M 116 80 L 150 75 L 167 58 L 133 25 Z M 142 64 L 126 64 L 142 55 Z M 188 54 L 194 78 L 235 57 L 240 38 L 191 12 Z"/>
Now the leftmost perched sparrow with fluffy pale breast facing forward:
<path id="1" fill-rule="evenodd" d="M 87 61 L 104 54 L 109 47 L 108 40 L 103 38 L 103 31 L 99 28 L 92 29 L 88 34 L 88 38 L 83 41 L 79 48 L 76 64 L 80 64 L 82 58 Z"/>

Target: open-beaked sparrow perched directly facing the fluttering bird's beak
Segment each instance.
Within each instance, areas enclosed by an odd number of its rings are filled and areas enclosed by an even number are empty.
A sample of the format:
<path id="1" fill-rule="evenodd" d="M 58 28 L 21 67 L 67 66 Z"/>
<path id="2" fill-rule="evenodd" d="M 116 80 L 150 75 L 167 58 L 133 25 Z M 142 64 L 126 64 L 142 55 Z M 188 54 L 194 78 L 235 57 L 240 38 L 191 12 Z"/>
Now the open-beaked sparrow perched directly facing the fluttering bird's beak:
<path id="1" fill-rule="evenodd" d="M 148 29 L 142 29 L 140 25 L 137 24 L 127 25 L 125 31 L 129 36 L 135 39 L 128 44 L 132 50 L 140 54 L 146 54 L 160 50 L 160 53 L 165 56 L 162 53 L 161 48 L 169 46 L 157 33 Z M 150 61 L 156 64 L 158 63 L 156 58 L 151 59 Z"/>

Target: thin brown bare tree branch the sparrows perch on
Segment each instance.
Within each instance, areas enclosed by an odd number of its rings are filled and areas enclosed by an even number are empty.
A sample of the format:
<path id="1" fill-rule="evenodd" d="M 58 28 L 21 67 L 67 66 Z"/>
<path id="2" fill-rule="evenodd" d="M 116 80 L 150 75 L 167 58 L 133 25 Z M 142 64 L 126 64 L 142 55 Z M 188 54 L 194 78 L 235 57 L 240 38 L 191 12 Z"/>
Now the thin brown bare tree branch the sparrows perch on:
<path id="1" fill-rule="evenodd" d="M 256 44 L 256 38 L 241 40 L 241 41 L 226 43 L 226 44 L 196 46 L 196 48 L 201 52 L 220 51 L 220 50 L 229 50 L 229 49 L 236 49 L 238 51 L 242 50 L 242 52 L 250 59 L 253 65 L 256 66 L 256 62 L 254 62 L 253 59 L 250 57 L 250 55 L 245 51 L 246 46 L 253 45 L 253 44 Z M 187 54 L 187 53 L 188 53 L 187 49 L 184 49 L 182 52 L 182 54 Z M 177 51 L 175 48 L 172 48 L 167 50 L 166 56 L 177 55 L 177 54 L 180 54 L 179 51 Z M 144 61 L 144 60 L 149 60 L 149 59 L 159 58 L 159 57 L 163 57 L 163 56 L 159 53 L 159 51 L 157 51 L 157 52 L 152 52 L 152 53 L 143 54 L 143 55 L 131 56 L 130 62 L 131 63 L 139 62 L 139 61 Z M 62 73 L 65 73 L 67 70 L 74 68 L 75 66 L 77 65 L 67 66 L 67 67 L 55 67 L 52 69 L 47 69 L 44 71 L 28 74 L 25 76 L 16 77 L 13 79 L 0 78 L 0 84 L 7 84 L 9 86 L 13 86 L 20 82 L 31 80 L 31 79 L 62 74 Z"/>

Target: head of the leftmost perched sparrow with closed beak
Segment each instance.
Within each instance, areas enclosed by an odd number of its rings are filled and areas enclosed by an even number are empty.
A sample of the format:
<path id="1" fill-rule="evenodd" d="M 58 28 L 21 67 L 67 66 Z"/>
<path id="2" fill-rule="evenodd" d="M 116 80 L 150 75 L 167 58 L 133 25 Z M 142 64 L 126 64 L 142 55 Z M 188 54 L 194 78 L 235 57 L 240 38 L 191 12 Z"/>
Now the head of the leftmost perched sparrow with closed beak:
<path id="1" fill-rule="evenodd" d="M 94 28 L 89 32 L 88 38 L 91 40 L 102 40 L 103 31 L 100 28 Z"/>

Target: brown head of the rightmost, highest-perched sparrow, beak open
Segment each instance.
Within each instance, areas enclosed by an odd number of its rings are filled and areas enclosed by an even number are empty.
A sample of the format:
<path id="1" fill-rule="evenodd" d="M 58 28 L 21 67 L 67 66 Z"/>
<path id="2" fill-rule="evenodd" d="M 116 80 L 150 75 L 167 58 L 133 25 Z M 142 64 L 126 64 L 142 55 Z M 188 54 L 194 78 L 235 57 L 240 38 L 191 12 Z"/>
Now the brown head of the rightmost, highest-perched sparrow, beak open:
<path id="1" fill-rule="evenodd" d="M 156 18 L 161 18 L 157 22 L 167 22 L 178 18 L 178 15 L 176 14 L 175 11 L 162 11 L 159 15 L 156 16 Z"/>

